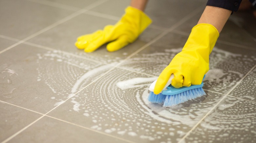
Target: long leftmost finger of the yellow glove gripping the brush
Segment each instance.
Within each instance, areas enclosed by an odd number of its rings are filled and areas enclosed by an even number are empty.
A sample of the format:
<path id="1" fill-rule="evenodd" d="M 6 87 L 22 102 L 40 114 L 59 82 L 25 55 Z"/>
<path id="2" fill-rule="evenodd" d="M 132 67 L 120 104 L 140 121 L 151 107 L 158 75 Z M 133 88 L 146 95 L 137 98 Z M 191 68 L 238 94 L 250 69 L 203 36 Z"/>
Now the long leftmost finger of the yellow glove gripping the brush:
<path id="1" fill-rule="evenodd" d="M 167 67 L 161 72 L 154 88 L 154 94 L 159 94 L 163 90 L 171 74 Z"/>

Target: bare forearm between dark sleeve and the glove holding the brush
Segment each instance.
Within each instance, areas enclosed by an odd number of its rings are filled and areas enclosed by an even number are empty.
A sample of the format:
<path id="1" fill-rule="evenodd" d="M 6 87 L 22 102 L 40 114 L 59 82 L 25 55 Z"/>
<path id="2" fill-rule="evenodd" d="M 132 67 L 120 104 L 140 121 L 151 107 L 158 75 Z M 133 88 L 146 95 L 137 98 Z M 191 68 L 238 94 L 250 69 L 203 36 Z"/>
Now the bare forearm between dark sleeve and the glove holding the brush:
<path id="1" fill-rule="evenodd" d="M 224 8 L 206 6 L 201 18 L 198 21 L 198 24 L 211 24 L 218 30 L 219 33 L 221 33 L 231 12 L 231 10 Z"/>

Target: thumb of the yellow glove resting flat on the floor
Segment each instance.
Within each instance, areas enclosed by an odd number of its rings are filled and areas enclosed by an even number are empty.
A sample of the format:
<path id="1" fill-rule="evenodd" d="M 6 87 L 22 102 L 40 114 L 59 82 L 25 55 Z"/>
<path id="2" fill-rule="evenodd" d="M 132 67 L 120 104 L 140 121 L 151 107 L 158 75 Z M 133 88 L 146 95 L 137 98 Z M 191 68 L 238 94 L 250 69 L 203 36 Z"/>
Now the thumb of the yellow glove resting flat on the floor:
<path id="1" fill-rule="evenodd" d="M 107 50 L 109 52 L 114 52 L 114 51 L 117 51 L 121 48 L 123 48 L 124 46 L 128 45 L 129 42 L 128 42 L 128 37 L 126 36 L 121 36 L 119 37 L 117 40 L 109 43 L 107 45 Z"/>

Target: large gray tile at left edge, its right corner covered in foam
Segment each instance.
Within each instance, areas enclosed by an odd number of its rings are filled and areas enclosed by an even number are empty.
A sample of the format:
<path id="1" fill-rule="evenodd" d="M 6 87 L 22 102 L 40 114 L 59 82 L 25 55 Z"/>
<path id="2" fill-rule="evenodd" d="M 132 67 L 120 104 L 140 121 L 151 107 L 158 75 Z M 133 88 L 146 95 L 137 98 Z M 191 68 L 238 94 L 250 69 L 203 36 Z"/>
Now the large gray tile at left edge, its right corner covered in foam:
<path id="1" fill-rule="evenodd" d="M 110 68 L 21 44 L 0 56 L 0 100 L 46 113 Z"/>

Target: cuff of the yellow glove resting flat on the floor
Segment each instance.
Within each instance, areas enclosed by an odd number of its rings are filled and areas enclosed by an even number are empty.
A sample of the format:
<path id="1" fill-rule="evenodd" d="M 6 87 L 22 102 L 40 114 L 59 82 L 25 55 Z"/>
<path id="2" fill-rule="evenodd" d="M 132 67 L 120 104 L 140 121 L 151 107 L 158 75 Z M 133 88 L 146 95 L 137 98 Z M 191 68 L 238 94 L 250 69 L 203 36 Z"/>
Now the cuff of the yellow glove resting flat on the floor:
<path id="1" fill-rule="evenodd" d="M 152 23 L 152 20 L 143 11 L 131 6 L 125 9 L 125 15 L 123 17 L 127 16 L 131 17 L 133 22 L 139 26 L 139 34 Z"/>

